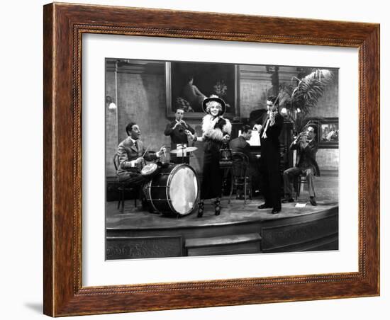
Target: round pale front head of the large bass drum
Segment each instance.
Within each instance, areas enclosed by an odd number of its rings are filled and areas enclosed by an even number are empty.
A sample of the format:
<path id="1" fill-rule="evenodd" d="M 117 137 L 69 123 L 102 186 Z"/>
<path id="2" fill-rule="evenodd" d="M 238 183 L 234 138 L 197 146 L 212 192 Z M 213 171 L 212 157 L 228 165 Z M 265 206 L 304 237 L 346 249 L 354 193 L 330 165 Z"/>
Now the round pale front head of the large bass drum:
<path id="1" fill-rule="evenodd" d="M 170 202 L 179 215 L 188 215 L 194 210 L 198 198 L 198 180 L 194 170 L 187 165 L 179 165 L 175 169 L 170 181 Z"/>

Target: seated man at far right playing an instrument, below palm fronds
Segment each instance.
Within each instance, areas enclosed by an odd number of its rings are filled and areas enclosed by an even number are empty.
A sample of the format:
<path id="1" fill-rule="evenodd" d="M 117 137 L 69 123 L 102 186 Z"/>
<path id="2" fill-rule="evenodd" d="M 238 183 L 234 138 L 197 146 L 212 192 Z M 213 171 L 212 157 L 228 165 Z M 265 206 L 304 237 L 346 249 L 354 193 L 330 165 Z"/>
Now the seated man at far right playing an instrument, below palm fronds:
<path id="1" fill-rule="evenodd" d="M 283 202 L 294 202 L 292 198 L 293 182 L 296 176 L 306 175 L 308 194 L 311 205 L 317 205 L 316 193 L 314 191 L 314 176 L 320 176 L 320 168 L 316 161 L 318 145 L 316 141 L 316 126 L 308 125 L 307 129 L 301 132 L 290 145 L 290 150 L 296 149 L 296 166 L 289 168 L 283 173 L 284 197 Z"/>

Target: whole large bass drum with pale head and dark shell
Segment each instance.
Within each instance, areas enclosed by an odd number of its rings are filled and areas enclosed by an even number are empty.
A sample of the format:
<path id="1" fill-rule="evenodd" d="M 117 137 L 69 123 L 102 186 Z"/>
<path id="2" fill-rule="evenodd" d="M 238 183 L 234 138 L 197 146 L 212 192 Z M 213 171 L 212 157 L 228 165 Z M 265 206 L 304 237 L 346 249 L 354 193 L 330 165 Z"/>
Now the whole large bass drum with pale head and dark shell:
<path id="1" fill-rule="evenodd" d="M 165 215 L 188 215 L 199 194 L 196 173 L 187 164 L 169 164 L 144 185 L 152 209 Z"/>

